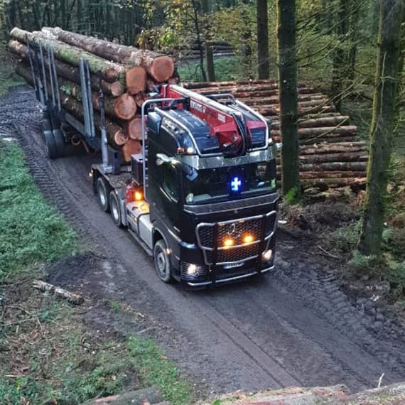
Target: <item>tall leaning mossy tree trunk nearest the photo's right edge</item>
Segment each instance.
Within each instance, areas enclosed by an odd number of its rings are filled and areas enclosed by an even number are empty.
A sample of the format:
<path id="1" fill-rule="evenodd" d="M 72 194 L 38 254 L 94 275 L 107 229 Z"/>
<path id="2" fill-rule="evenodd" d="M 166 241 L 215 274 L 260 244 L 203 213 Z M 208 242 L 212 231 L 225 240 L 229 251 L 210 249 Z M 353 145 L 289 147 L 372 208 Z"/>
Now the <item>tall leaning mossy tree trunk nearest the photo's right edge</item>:
<path id="1" fill-rule="evenodd" d="M 391 157 L 396 97 L 403 0 L 384 0 L 379 14 L 379 53 L 376 89 L 374 91 L 370 156 L 367 168 L 367 190 L 359 250 L 378 255 L 382 243 L 387 171 Z"/>

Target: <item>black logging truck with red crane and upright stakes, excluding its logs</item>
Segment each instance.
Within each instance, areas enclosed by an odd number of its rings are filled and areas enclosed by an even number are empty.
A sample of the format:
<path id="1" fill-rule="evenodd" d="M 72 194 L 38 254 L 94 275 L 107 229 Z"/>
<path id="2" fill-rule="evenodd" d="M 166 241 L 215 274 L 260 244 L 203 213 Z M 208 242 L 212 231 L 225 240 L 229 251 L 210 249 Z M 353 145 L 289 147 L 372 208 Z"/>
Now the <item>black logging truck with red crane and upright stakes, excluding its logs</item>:
<path id="1" fill-rule="evenodd" d="M 101 150 L 90 172 L 99 205 L 153 257 L 162 281 L 198 288 L 273 269 L 279 194 L 261 115 L 232 95 L 161 85 L 141 109 L 142 152 L 122 164 L 107 144 L 103 108 L 100 131 L 95 126 L 86 61 L 82 122 L 61 106 L 52 51 L 44 53 L 31 49 L 30 62 L 48 155 L 63 156 L 77 136 Z"/>

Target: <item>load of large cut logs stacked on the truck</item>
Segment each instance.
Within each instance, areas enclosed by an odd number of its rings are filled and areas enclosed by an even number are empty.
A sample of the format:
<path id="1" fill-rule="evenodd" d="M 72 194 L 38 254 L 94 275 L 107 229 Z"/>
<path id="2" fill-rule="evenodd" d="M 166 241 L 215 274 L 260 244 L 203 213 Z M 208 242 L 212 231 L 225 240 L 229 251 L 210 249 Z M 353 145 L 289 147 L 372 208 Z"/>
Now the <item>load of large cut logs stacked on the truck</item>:
<path id="1" fill-rule="evenodd" d="M 21 63 L 16 65 L 16 73 L 31 85 L 33 79 L 28 64 L 27 41 L 53 48 L 61 104 L 80 121 L 84 117 L 80 58 L 88 61 L 92 73 L 92 103 L 97 129 L 101 119 L 96 75 L 101 72 L 109 144 L 121 149 L 124 161 L 130 161 L 131 154 L 141 151 L 140 107 L 155 85 L 174 80 L 175 69 L 171 57 L 60 28 L 43 28 L 32 33 L 13 28 L 9 49 L 21 57 Z"/>

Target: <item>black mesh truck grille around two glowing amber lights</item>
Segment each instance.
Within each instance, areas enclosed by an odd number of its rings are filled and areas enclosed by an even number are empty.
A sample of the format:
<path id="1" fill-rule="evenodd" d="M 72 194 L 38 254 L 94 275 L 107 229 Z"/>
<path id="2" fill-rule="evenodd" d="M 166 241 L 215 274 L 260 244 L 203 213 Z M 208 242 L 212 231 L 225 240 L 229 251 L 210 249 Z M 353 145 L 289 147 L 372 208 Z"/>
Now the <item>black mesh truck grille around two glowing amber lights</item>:
<path id="1" fill-rule="evenodd" d="M 261 228 L 264 226 L 264 247 L 266 248 L 276 227 L 276 217 L 276 212 L 272 211 L 256 217 L 198 225 L 197 240 L 204 253 L 205 264 L 228 264 L 259 257 L 263 236 Z M 216 237 L 215 234 L 217 234 Z M 252 242 L 244 243 L 243 239 L 247 234 L 252 236 Z M 232 247 L 224 247 L 227 238 L 232 238 Z M 215 247 L 217 247 L 216 260 Z"/>

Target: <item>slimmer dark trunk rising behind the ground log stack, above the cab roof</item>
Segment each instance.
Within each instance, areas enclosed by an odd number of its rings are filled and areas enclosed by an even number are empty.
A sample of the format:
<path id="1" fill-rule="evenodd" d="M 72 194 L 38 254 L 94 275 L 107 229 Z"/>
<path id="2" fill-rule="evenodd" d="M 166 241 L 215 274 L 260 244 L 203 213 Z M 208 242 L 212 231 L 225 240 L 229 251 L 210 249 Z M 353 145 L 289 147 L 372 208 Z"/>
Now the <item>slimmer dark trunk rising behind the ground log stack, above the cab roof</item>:
<path id="1" fill-rule="evenodd" d="M 259 79 L 269 79 L 269 23 L 267 0 L 257 0 L 257 73 Z"/>

